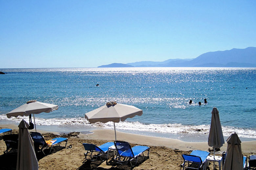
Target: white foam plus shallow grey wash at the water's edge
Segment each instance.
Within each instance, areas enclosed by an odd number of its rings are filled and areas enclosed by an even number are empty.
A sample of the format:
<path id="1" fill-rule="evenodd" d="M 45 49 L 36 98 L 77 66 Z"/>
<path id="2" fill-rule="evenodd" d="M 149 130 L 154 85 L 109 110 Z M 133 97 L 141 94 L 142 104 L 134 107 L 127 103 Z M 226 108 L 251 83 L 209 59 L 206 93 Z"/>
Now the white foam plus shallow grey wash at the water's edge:
<path id="1" fill-rule="evenodd" d="M 1 124 L 15 124 L 24 117 L 6 118 L 6 114 L 0 115 Z M 24 118 L 27 122 L 28 118 Z M 93 131 L 96 129 L 114 129 L 113 122 L 89 124 L 85 118 L 35 118 L 36 127 L 43 130 L 52 131 L 56 129 L 59 133 L 68 133 L 70 131 Z M 38 124 L 37 124 L 38 123 Z M 206 142 L 208 141 L 208 133 L 210 125 L 181 125 L 181 124 L 142 124 L 137 122 L 120 122 L 116 123 L 116 129 L 121 132 L 140 134 L 146 136 L 163 137 L 171 139 L 179 139 L 185 142 Z M 239 134 L 241 141 L 256 141 L 256 129 L 239 128 L 222 126 L 224 140 L 230 134 L 236 132 Z"/>

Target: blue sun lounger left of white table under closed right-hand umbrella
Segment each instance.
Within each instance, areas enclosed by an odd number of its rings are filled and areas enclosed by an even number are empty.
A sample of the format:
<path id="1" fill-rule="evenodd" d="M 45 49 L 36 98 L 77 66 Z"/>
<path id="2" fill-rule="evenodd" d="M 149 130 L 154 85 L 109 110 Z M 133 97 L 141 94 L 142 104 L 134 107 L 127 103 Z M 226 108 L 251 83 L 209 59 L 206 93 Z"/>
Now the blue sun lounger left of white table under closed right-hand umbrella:
<path id="1" fill-rule="evenodd" d="M 190 154 L 183 154 L 182 158 L 184 162 L 181 164 L 181 167 L 187 169 L 200 169 L 203 166 L 203 163 L 206 157 L 210 155 L 210 152 L 203 150 L 193 150 Z M 187 166 L 185 164 L 188 163 Z M 192 167 L 191 164 L 198 165 L 196 167 Z"/>

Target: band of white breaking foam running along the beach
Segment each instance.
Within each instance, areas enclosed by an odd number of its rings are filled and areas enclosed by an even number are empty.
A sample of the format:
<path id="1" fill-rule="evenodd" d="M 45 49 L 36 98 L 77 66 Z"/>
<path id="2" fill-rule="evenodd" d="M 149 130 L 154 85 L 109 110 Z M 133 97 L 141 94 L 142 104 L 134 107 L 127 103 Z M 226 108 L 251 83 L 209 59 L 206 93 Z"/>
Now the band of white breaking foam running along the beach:
<path id="1" fill-rule="evenodd" d="M 8 119 L 6 114 L 0 115 L 0 120 L 12 120 L 19 123 L 22 119 L 29 121 L 28 117 L 18 116 L 17 118 L 11 117 Z M 35 117 L 37 125 L 83 125 L 95 128 L 113 129 L 113 122 L 89 124 L 89 122 L 82 117 L 79 118 L 52 118 L 43 119 Z M 142 124 L 139 122 L 119 122 L 116 123 L 116 129 L 123 130 L 138 130 L 146 132 L 157 132 L 157 133 L 180 133 L 180 134 L 208 134 L 210 125 L 197 125 L 197 126 L 186 126 L 181 124 Z M 237 128 L 223 126 L 223 135 L 229 136 L 231 133 L 236 132 L 241 138 L 256 138 L 256 129 L 248 128 Z"/>

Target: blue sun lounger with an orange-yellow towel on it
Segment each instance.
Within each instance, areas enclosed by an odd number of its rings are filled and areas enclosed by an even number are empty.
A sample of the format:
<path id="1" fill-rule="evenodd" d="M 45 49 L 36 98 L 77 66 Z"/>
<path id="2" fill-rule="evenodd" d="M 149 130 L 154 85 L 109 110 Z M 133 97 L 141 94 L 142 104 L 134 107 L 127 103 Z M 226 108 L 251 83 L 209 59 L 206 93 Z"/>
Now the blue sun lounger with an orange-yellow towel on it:
<path id="1" fill-rule="evenodd" d="M 68 138 L 54 138 L 51 141 L 53 143 L 51 145 L 47 144 L 44 137 L 41 135 L 41 133 L 38 132 L 30 132 L 30 136 L 32 137 L 32 140 L 34 141 L 34 147 L 36 151 L 42 151 L 44 153 L 44 149 L 50 148 L 50 152 L 52 151 L 52 147 L 56 144 L 60 144 L 61 142 L 66 142 L 65 147 L 67 146 Z"/>

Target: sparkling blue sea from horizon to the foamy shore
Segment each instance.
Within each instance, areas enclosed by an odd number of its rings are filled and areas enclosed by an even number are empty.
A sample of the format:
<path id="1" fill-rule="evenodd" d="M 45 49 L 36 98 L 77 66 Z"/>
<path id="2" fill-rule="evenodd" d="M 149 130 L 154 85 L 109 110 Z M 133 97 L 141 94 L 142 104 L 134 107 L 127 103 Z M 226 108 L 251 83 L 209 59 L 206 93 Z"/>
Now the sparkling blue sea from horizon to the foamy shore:
<path id="1" fill-rule="evenodd" d="M 256 140 L 256 68 L 24 68 L 0 71 L 6 73 L 0 75 L 0 124 L 18 125 L 22 119 L 28 122 L 28 116 L 7 118 L 6 113 L 29 100 L 36 100 L 59 106 L 53 112 L 34 115 L 37 129 L 60 133 L 113 129 L 113 122 L 89 124 L 85 113 L 116 101 L 143 110 L 141 116 L 116 123 L 118 131 L 205 142 L 211 111 L 216 107 L 225 139 L 236 132 L 243 141 Z"/>

